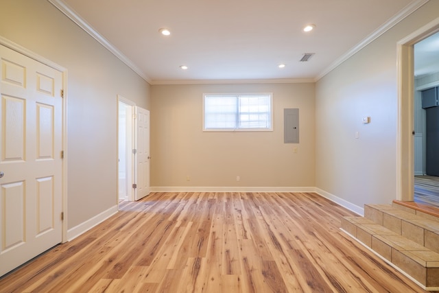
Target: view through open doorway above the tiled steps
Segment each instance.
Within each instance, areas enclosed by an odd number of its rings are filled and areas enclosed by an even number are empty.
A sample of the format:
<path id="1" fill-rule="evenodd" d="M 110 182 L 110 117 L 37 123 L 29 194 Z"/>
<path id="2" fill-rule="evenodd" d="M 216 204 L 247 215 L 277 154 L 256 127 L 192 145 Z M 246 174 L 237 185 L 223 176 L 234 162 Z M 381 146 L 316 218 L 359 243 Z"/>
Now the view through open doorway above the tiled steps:
<path id="1" fill-rule="evenodd" d="M 414 44 L 414 202 L 439 207 L 439 32 Z"/>

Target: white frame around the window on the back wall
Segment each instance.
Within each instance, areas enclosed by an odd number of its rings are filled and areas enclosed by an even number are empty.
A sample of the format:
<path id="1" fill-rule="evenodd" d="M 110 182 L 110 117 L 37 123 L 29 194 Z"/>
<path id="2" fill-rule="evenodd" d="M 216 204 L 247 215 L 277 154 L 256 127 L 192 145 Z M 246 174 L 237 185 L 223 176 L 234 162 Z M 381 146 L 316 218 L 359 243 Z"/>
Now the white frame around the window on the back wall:
<path id="1" fill-rule="evenodd" d="M 205 101 L 206 97 L 212 97 L 212 96 L 218 96 L 218 97 L 239 97 L 243 95 L 255 95 L 255 96 L 261 96 L 261 95 L 269 95 L 270 96 L 270 128 L 206 128 L 206 121 L 205 121 L 205 115 L 206 115 L 206 108 L 205 108 Z M 202 96 L 203 102 L 202 102 L 202 115 L 203 115 L 203 131 L 206 132 L 265 132 L 265 131 L 273 131 L 273 93 L 203 93 Z M 237 115 L 239 113 L 237 112 Z"/>

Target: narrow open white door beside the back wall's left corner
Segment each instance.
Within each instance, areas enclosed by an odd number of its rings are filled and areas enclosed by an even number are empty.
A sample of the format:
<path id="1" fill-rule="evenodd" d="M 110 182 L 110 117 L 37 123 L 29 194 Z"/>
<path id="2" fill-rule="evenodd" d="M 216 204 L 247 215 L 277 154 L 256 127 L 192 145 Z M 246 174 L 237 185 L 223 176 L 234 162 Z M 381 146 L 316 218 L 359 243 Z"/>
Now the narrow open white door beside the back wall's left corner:
<path id="1" fill-rule="evenodd" d="M 150 194 L 150 111 L 134 107 L 134 200 Z"/>

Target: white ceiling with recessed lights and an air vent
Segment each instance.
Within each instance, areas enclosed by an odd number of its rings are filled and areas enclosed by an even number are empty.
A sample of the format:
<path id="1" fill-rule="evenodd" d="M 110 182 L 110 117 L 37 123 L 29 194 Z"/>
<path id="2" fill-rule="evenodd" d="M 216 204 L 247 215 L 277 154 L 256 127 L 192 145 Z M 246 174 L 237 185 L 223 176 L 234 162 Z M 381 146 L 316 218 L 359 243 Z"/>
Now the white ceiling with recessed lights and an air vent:
<path id="1" fill-rule="evenodd" d="M 151 84 L 317 80 L 426 2 L 49 1 L 83 27 L 88 25 L 88 32 L 99 34 L 98 40 Z M 316 29 L 302 32 L 309 23 Z M 161 27 L 171 35 L 159 34 Z M 299 62 L 304 53 L 315 55 Z M 286 67 L 279 69 L 280 63 Z"/>

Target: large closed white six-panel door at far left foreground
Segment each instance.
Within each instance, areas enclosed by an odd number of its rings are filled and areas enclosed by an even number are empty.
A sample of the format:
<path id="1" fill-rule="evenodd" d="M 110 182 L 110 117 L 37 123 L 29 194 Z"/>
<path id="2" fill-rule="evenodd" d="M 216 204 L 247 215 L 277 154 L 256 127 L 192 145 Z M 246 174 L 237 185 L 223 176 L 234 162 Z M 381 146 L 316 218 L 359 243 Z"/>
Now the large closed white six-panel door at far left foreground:
<path id="1" fill-rule="evenodd" d="M 0 276 L 62 241 L 62 73 L 0 45 Z"/>

